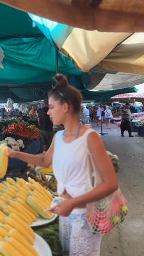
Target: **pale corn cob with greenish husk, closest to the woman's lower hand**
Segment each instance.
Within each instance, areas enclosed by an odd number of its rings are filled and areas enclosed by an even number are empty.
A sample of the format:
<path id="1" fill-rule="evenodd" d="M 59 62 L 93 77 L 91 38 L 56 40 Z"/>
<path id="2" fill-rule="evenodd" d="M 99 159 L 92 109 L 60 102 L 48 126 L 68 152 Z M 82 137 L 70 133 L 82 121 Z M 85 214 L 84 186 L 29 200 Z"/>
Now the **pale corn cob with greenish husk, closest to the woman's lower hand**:
<path id="1" fill-rule="evenodd" d="M 53 217 L 51 212 L 44 212 L 46 208 L 42 206 L 33 196 L 28 196 L 27 203 L 32 206 L 34 210 L 37 211 L 44 219 L 51 219 Z"/>

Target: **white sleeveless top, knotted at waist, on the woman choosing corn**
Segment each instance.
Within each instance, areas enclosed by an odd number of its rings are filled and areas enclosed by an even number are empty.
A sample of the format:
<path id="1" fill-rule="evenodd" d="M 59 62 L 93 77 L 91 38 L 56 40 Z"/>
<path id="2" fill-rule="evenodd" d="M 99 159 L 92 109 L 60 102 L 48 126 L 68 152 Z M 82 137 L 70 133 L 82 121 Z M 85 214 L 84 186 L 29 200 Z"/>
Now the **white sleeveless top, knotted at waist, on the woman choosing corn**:
<path id="1" fill-rule="evenodd" d="M 56 133 L 52 160 L 53 173 L 58 182 L 57 192 L 61 195 L 66 190 L 72 197 L 77 197 L 88 191 L 87 136 L 95 131 L 88 129 L 83 136 L 70 143 L 63 141 L 63 132 Z"/>

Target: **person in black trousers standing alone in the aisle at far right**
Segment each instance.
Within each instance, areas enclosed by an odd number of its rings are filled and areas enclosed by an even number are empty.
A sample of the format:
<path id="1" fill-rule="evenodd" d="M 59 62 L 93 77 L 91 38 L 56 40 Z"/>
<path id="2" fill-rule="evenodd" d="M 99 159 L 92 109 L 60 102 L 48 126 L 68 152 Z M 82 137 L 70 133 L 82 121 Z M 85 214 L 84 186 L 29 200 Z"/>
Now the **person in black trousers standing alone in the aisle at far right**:
<path id="1" fill-rule="evenodd" d="M 121 136 L 124 137 L 124 131 L 128 131 L 129 137 L 133 138 L 134 136 L 131 135 L 131 112 L 129 108 L 130 104 L 127 102 L 122 109 Z"/>

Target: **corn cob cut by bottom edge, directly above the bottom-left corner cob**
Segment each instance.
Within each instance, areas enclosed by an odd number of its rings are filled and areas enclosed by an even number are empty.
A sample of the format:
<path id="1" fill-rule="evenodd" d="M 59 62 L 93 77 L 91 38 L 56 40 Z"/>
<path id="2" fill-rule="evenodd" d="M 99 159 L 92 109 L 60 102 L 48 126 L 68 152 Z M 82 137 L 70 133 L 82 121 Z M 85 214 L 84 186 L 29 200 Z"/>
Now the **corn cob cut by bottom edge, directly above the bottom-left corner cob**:
<path id="1" fill-rule="evenodd" d="M 19 241 L 16 241 L 16 239 L 14 237 L 5 237 L 4 240 L 7 241 L 9 243 L 9 245 L 11 245 L 15 249 L 17 249 L 17 251 L 19 251 L 19 253 L 21 253 L 21 255 L 33 256 L 33 254 L 31 252 L 29 252 L 28 249 L 22 245 L 22 243 L 20 243 Z"/>

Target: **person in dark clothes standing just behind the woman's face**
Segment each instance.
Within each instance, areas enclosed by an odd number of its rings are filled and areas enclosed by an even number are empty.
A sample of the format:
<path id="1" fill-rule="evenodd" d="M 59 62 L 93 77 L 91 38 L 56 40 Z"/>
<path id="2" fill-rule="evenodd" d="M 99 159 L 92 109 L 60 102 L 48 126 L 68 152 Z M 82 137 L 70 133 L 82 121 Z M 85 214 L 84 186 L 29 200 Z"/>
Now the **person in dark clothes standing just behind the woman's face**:
<path id="1" fill-rule="evenodd" d="M 44 100 L 44 107 L 39 109 L 38 123 L 40 126 L 41 138 L 43 141 L 43 151 L 49 149 L 50 144 L 52 142 L 52 138 L 54 135 L 53 132 L 53 123 L 50 120 L 49 115 L 47 115 L 47 111 L 49 110 L 48 100 Z"/>

